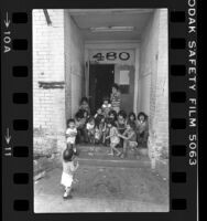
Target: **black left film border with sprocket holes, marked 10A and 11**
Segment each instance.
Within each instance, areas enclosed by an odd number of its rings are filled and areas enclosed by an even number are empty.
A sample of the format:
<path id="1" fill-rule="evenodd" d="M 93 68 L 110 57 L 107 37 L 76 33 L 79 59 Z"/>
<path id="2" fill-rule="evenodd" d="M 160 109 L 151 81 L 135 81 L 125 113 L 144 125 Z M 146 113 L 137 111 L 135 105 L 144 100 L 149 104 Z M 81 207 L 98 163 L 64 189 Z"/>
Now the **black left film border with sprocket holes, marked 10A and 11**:
<path id="1" fill-rule="evenodd" d="M 29 112 L 32 109 L 32 17 L 31 13 L 10 11 L 1 12 L 1 61 L 6 64 L 1 80 L 2 91 L 7 92 L 2 98 L 2 105 L 6 105 L 2 110 L 2 124 L 6 125 L 2 127 L 2 162 L 10 170 L 6 171 L 3 180 L 3 188 L 10 189 L 3 199 L 7 204 L 3 211 L 9 214 L 12 210 L 32 210 L 29 200 L 33 194 L 29 188 L 33 180 L 32 113 Z"/>

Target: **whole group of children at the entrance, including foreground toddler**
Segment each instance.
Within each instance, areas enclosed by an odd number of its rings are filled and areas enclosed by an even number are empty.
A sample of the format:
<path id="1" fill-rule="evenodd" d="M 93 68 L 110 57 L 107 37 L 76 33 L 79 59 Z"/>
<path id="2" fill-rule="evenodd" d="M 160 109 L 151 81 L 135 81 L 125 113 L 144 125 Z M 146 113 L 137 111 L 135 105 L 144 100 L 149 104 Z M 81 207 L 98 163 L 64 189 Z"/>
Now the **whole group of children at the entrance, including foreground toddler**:
<path id="1" fill-rule="evenodd" d="M 65 187 L 64 198 L 70 197 L 73 173 L 78 168 L 78 164 L 74 164 L 76 144 L 102 144 L 110 147 L 109 155 L 124 158 L 129 148 L 146 146 L 148 136 L 148 116 L 144 113 L 139 113 L 138 116 L 134 113 L 127 115 L 121 110 L 117 85 L 112 87 L 110 99 L 105 97 L 95 115 L 90 113 L 88 99 L 83 97 L 75 118 L 67 120 L 67 148 L 63 152 L 61 181 Z"/>

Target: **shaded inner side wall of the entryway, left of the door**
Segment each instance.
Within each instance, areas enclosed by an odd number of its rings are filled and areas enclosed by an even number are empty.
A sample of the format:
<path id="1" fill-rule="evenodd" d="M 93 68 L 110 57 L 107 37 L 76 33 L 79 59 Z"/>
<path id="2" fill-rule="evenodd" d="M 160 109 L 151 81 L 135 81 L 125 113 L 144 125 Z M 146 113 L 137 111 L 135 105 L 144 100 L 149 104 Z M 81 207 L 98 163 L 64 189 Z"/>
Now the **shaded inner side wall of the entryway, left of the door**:
<path id="1" fill-rule="evenodd" d="M 78 109 L 84 81 L 84 40 L 65 11 L 65 72 L 66 72 L 66 117 L 74 117 Z"/>

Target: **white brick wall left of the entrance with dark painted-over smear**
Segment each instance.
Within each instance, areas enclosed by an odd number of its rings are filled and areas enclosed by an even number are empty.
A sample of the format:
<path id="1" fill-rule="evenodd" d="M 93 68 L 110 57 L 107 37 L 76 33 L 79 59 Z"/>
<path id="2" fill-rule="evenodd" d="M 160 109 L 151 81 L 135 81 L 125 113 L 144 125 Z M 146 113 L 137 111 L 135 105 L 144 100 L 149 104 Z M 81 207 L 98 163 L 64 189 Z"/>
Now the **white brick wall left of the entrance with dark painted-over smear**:
<path id="1" fill-rule="evenodd" d="M 61 141 L 65 131 L 64 13 L 47 12 L 52 25 L 43 10 L 33 10 L 33 126 L 34 135 Z M 40 139 L 34 139 L 34 148 L 39 147 L 43 148 Z"/>

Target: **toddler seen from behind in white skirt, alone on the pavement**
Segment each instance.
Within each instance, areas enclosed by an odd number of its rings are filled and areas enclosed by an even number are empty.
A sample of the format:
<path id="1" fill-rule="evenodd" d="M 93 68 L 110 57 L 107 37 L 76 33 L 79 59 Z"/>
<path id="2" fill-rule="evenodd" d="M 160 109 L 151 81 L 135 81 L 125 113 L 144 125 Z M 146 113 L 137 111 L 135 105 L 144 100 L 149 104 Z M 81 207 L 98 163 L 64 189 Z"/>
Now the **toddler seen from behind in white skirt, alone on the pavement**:
<path id="1" fill-rule="evenodd" d="M 77 170 L 79 164 L 75 165 L 75 156 L 72 148 L 66 148 L 63 152 L 63 173 L 61 183 L 65 187 L 64 199 L 72 199 L 72 185 L 74 181 L 74 172 Z"/>

